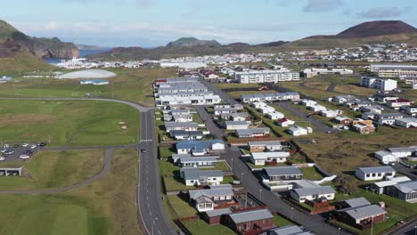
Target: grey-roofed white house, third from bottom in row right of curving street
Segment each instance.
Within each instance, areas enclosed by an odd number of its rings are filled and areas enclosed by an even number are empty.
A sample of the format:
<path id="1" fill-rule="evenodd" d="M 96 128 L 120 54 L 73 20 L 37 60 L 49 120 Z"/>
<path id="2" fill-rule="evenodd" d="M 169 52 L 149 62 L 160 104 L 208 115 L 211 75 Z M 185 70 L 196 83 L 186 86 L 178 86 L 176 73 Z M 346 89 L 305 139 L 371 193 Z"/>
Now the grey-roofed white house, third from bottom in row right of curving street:
<path id="1" fill-rule="evenodd" d="M 303 173 L 296 166 L 275 166 L 262 169 L 263 178 L 267 182 L 297 182 Z"/>

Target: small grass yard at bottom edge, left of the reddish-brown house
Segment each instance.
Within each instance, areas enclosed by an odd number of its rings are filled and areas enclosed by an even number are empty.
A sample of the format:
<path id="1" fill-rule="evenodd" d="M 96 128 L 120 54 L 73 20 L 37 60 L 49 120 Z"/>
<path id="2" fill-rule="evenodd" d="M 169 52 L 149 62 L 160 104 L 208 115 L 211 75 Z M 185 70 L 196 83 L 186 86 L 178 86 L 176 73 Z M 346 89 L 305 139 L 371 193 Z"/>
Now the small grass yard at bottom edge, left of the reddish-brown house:
<path id="1" fill-rule="evenodd" d="M 192 234 L 199 234 L 199 235 L 213 235 L 213 234 L 222 234 L 222 235 L 234 235 L 236 234 L 234 231 L 229 229 L 228 227 L 216 224 L 210 225 L 203 220 L 197 221 L 184 221 L 183 222 L 185 228 L 191 231 Z"/>

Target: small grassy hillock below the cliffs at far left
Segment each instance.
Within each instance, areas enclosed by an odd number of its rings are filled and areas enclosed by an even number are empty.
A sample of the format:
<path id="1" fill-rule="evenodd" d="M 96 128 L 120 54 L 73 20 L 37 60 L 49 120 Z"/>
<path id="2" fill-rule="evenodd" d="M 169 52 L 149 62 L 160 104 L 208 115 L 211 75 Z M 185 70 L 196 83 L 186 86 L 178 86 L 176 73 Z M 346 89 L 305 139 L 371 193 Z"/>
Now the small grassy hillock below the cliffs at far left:
<path id="1" fill-rule="evenodd" d="M 0 76 L 2 73 L 49 68 L 52 66 L 28 52 L 17 53 L 14 58 L 0 58 Z"/>

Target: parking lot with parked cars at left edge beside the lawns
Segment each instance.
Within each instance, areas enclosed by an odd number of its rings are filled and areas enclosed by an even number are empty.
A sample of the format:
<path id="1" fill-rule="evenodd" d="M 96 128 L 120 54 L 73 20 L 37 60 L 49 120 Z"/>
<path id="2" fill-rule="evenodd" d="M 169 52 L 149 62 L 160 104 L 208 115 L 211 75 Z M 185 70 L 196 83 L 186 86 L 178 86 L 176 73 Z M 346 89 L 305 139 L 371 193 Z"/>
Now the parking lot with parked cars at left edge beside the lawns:
<path id="1" fill-rule="evenodd" d="M 8 145 L 8 147 L 6 147 Z M 25 161 L 33 157 L 37 151 L 42 150 L 46 143 L 28 142 L 27 145 L 24 143 L 8 143 L 0 147 L 2 152 L 0 158 L 4 157 L 2 162 L 13 162 L 13 161 Z M 20 156 L 26 155 L 27 158 L 20 158 Z"/>

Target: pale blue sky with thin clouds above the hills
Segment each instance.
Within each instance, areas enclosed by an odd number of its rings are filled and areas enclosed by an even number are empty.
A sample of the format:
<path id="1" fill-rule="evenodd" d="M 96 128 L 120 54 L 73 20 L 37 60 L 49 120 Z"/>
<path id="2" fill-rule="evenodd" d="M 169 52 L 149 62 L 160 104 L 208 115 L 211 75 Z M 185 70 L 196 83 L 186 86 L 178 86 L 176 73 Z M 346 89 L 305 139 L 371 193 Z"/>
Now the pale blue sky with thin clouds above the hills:
<path id="1" fill-rule="evenodd" d="M 364 21 L 417 27 L 415 0 L 12 0 L 0 19 L 29 36 L 101 46 L 166 45 L 182 36 L 221 44 L 331 35 Z"/>

